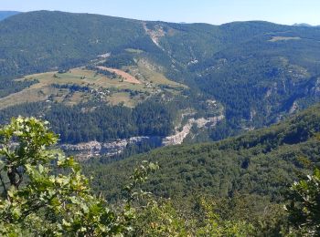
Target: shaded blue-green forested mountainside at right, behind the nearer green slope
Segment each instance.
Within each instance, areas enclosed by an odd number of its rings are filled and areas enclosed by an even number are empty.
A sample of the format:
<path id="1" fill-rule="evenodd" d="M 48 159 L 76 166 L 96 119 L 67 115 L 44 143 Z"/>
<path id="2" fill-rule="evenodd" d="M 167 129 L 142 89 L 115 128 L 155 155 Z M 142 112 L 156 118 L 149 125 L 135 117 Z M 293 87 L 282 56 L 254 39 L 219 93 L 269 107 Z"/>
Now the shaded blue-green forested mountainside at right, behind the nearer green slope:
<path id="1" fill-rule="evenodd" d="M 198 87 L 225 105 L 234 129 L 259 128 L 319 101 L 320 31 L 279 27 L 192 68 Z"/>

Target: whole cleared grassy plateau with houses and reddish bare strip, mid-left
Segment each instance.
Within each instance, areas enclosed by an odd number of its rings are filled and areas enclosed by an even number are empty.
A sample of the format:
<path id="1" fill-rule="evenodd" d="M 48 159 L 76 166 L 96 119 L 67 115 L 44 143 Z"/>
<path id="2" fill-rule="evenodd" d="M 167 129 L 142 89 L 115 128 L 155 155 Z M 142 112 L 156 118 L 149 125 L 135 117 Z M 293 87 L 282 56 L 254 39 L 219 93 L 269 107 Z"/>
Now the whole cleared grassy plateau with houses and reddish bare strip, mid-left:
<path id="1" fill-rule="evenodd" d="M 18 80 L 37 79 L 37 83 L 0 98 L 0 109 L 26 102 L 47 101 L 72 106 L 91 100 L 111 105 L 123 104 L 133 108 L 140 101 L 163 90 L 179 93 L 180 90 L 177 88 L 187 88 L 167 79 L 159 72 L 153 72 L 152 68 L 144 64 L 134 68 L 106 68 L 115 76 L 109 77 L 98 71 L 77 67 L 66 72 L 51 71 L 20 78 Z M 166 85 L 167 88 L 161 88 L 160 85 Z"/>

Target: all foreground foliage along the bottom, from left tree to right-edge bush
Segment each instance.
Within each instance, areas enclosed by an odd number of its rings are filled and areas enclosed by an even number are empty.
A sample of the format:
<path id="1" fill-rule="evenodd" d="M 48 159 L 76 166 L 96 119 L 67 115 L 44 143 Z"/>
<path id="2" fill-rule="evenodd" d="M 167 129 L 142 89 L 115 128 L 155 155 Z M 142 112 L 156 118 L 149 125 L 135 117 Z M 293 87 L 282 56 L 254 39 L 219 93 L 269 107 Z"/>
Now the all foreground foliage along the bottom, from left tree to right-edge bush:
<path id="1" fill-rule="evenodd" d="M 116 206 L 92 194 L 79 164 L 51 149 L 57 135 L 36 118 L 13 118 L 0 129 L 0 234 L 2 236 L 300 236 L 319 234 L 320 171 L 294 183 L 286 215 L 245 221 L 231 213 L 237 201 L 196 198 L 191 211 L 170 200 L 155 201 L 141 184 L 155 163 L 143 161 Z M 201 195 L 201 193 L 198 193 Z M 251 200 L 248 201 L 250 203 Z M 251 205 L 251 204 L 250 204 Z M 220 210 L 219 210 L 220 209 Z M 265 207 L 267 210 L 267 207 Z M 249 211 L 250 208 L 245 208 Z M 244 211 L 235 213 L 244 214 Z M 266 211 L 264 211 L 266 212 Z M 272 212 L 272 211 L 271 211 Z M 229 215 L 229 217 L 228 217 Z M 263 222 L 260 222 L 262 220 Z"/>

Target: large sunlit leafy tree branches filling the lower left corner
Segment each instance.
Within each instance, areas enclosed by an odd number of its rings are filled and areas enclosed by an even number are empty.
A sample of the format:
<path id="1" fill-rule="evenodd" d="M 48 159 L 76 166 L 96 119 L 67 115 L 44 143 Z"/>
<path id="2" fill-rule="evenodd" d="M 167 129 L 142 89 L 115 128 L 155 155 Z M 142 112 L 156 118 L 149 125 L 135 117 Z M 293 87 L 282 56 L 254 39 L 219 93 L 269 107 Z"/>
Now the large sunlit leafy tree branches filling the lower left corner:
<path id="1" fill-rule="evenodd" d="M 46 123 L 14 118 L 0 134 L 1 235 L 100 236 L 129 231 L 130 206 L 118 216 L 92 195 L 79 165 L 48 149 L 58 137 Z"/>

